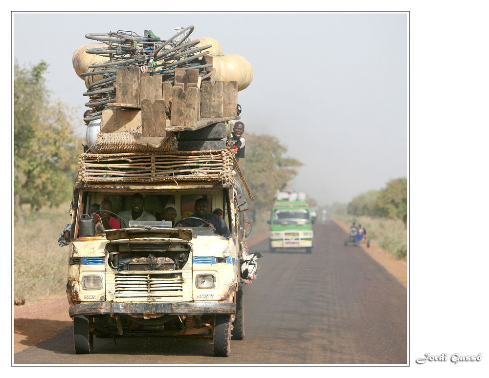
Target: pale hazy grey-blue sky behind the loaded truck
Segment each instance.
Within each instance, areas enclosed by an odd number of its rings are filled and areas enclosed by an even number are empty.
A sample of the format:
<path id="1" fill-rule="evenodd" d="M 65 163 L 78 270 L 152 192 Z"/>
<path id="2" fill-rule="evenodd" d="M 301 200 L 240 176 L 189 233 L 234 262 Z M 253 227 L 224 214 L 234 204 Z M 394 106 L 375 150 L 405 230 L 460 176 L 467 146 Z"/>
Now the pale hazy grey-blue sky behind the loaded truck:
<path id="1" fill-rule="evenodd" d="M 251 63 L 253 81 L 238 93 L 244 137 L 275 135 L 304 164 L 289 189 L 347 203 L 407 175 L 407 13 L 18 13 L 14 57 L 49 63 L 52 98 L 77 108 L 85 132 L 86 87 L 72 66 L 76 48 L 94 42 L 85 34 L 151 29 L 167 39 L 189 25 L 191 38 Z"/>

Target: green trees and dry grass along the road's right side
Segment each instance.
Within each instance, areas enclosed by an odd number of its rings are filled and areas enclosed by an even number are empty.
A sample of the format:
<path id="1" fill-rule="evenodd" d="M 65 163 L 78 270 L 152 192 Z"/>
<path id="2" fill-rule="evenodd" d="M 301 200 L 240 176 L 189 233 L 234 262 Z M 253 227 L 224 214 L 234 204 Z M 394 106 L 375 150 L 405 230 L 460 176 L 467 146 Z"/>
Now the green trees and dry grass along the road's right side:
<path id="1" fill-rule="evenodd" d="M 370 240 L 400 260 L 407 257 L 407 179 L 390 180 L 381 190 L 359 194 L 348 205 L 330 209 L 347 225 L 363 223 Z"/>

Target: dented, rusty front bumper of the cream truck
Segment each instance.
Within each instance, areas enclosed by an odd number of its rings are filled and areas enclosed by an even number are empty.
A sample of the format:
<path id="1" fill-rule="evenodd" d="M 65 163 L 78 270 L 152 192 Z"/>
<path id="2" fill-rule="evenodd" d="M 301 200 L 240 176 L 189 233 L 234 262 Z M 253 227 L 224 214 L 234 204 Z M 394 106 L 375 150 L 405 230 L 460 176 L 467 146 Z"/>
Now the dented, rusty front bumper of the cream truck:
<path id="1" fill-rule="evenodd" d="M 88 302 L 69 307 L 69 316 L 79 315 L 203 315 L 236 314 L 233 302 Z"/>

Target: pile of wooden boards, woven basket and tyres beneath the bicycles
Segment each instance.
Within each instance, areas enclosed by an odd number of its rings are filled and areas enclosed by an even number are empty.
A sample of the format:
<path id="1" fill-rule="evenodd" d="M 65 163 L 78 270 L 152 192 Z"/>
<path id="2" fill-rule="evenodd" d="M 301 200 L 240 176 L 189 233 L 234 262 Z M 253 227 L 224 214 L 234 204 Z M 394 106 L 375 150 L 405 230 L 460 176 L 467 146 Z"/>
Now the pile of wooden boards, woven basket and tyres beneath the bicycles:
<path id="1" fill-rule="evenodd" d="M 117 68 L 115 103 L 102 111 L 100 153 L 201 151 L 226 148 L 226 125 L 237 115 L 236 82 L 201 81 L 197 69 L 161 75 Z"/>

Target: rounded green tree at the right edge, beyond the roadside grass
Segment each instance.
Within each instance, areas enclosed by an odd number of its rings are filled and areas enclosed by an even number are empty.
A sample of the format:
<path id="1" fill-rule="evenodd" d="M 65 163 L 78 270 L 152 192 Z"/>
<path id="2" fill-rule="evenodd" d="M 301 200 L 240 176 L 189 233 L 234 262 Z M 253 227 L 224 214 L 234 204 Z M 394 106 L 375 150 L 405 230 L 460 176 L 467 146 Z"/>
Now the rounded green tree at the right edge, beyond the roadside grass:
<path id="1" fill-rule="evenodd" d="M 400 219 L 407 223 L 407 178 L 390 180 L 385 189 L 380 190 L 376 209 L 379 216 Z"/>

